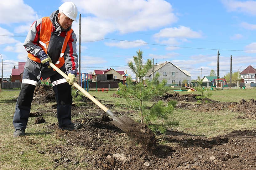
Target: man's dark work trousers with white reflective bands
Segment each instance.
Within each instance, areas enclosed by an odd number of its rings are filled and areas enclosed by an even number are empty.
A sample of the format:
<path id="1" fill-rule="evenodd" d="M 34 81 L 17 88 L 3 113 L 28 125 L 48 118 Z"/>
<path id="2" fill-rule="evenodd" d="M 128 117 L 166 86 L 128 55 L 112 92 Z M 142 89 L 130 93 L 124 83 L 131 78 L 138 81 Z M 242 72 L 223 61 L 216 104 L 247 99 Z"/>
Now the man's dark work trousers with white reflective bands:
<path id="1" fill-rule="evenodd" d="M 57 118 L 59 127 L 65 127 L 71 123 L 71 86 L 66 82 L 59 73 L 50 76 L 55 98 L 57 102 Z M 15 113 L 13 116 L 13 126 L 16 129 L 27 128 L 29 120 L 29 113 L 31 109 L 31 102 L 34 95 L 35 86 L 39 79 L 32 73 L 24 69 L 21 91 L 16 103 Z"/>

